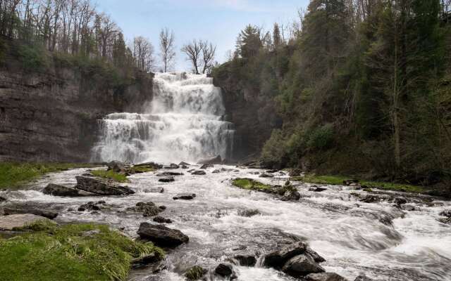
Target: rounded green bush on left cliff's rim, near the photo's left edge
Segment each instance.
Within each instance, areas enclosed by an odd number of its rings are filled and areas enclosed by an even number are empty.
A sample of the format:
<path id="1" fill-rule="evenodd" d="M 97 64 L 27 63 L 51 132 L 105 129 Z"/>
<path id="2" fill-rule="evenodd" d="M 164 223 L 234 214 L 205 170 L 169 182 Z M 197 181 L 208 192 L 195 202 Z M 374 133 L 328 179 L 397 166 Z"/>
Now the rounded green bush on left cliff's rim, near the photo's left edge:
<path id="1" fill-rule="evenodd" d="M 42 71 L 49 67 L 49 54 L 41 46 L 20 44 L 18 45 L 18 58 L 24 70 Z"/>

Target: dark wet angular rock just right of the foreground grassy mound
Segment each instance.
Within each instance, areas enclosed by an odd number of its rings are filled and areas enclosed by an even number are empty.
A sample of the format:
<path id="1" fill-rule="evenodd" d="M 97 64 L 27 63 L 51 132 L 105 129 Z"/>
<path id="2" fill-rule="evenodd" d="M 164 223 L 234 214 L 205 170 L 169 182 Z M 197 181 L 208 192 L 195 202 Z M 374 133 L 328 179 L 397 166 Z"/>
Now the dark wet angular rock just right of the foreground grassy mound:
<path id="1" fill-rule="evenodd" d="M 154 244 L 162 247 L 176 247 L 190 240 L 180 230 L 167 228 L 162 225 L 152 225 L 150 223 L 141 223 L 137 234 L 143 240 L 154 242 Z"/>

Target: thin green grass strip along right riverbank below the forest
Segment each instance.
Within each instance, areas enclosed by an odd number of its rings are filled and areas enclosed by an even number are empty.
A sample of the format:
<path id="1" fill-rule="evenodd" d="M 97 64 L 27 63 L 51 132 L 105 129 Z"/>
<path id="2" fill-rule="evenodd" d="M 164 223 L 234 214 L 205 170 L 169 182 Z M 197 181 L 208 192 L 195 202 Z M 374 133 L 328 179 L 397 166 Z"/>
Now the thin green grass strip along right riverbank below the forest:
<path id="1" fill-rule="evenodd" d="M 350 178 L 345 176 L 316 176 L 315 174 L 307 174 L 306 176 L 291 177 L 290 181 L 303 181 L 304 183 L 342 185 L 343 181 L 347 179 Z M 414 193 L 428 192 L 428 189 L 422 186 L 407 185 L 402 183 L 383 183 L 378 181 L 360 181 L 359 183 L 361 185 L 365 185 L 370 190 L 371 188 L 373 188 L 373 189 L 414 192 Z"/>

